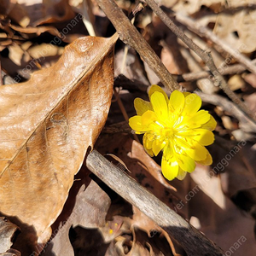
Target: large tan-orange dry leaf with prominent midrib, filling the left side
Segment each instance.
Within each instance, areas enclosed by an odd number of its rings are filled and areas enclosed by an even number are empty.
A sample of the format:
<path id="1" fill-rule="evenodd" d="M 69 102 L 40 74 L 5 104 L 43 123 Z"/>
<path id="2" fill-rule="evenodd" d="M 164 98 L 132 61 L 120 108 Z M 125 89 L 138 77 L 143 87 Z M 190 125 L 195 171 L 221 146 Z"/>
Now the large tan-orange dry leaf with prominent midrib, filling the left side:
<path id="1" fill-rule="evenodd" d="M 113 38 L 79 38 L 53 66 L 0 88 L 0 212 L 44 243 L 113 90 Z M 28 239 L 28 238 L 27 238 Z"/>

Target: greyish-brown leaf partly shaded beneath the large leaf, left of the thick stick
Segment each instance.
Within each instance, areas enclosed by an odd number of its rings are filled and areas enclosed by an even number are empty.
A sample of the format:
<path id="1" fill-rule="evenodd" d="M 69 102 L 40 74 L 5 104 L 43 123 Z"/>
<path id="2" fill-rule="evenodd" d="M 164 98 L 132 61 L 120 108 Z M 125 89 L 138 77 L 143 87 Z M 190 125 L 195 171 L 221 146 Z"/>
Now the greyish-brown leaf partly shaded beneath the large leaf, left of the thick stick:
<path id="1" fill-rule="evenodd" d="M 73 256 L 73 248 L 75 250 L 81 247 L 84 249 L 84 244 L 88 247 L 89 240 L 93 241 L 94 233 L 90 232 L 91 229 L 97 229 L 105 225 L 105 218 L 110 206 L 110 198 L 93 180 L 84 188 L 85 180 L 83 181 L 83 176 L 85 175 L 83 170 L 81 171 L 81 174 L 79 172 L 78 175 L 82 180 L 74 182 L 63 212 L 61 212 L 61 216 L 58 218 L 59 221 L 56 221 L 52 226 L 54 236 L 45 245 L 44 251 L 40 254 L 42 256 Z M 86 183 L 88 183 L 88 177 L 85 177 L 85 179 L 87 179 Z M 76 189 L 79 189 L 79 192 L 77 192 L 78 194 L 76 196 L 73 196 L 73 190 Z M 68 214 L 68 212 L 71 212 L 71 214 Z M 77 233 L 75 241 L 72 242 L 73 247 L 70 242 L 72 239 L 68 236 L 72 226 Z M 83 230 L 81 230 L 82 227 L 84 228 Z M 86 234 L 87 236 L 82 232 L 85 229 L 90 229 L 87 232 L 89 234 Z M 98 241 L 96 243 L 97 247 L 99 247 Z"/>

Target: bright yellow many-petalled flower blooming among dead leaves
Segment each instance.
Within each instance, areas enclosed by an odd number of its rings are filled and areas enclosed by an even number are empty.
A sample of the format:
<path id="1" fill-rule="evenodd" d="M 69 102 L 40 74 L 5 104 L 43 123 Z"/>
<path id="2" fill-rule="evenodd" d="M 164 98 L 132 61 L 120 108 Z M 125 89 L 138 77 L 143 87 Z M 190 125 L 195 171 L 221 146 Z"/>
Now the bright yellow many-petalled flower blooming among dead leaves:
<path id="1" fill-rule="evenodd" d="M 209 166 L 212 156 L 204 146 L 214 141 L 212 131 L 216 121 L 201 108 L 201 98 L 195 93 L 174 90 L 170 100 L 158 85 L 148 93 L 150 102 L 136 98 L 137 115 L 129 119 L 131 129 L 143 134 L 143 146 L 149 155 L 163 151 L 163 175 L 172 180 L 183 179 L 195 170 L 195 162 Z"/>

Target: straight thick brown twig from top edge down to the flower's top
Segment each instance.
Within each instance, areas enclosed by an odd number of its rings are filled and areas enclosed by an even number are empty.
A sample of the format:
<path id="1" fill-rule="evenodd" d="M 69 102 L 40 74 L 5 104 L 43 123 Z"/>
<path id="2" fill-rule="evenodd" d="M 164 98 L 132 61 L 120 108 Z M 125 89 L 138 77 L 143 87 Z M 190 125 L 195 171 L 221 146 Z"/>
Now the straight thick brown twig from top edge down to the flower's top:
<path id="1" fill-rule="evenodd" d="M 141 58 L 148 63 L 154 73 L 160 78 L 161 82 L 169 90 L 180 90 L 180 86 L 171 73 L 168 72 L 164 64 L 160 61 L 158 55 L 146 42 L 143 36 L 137 31 L 135 26 L 132 26 L 131 21 L 125 16 L 123 11 L 119 9 L 113 0 L 96 0 L 103 12 L 108 16 L 108 19 L 113 23 L 116 31 L 119 33 L 119 38 L 132 48 L 136 49 Z"/>

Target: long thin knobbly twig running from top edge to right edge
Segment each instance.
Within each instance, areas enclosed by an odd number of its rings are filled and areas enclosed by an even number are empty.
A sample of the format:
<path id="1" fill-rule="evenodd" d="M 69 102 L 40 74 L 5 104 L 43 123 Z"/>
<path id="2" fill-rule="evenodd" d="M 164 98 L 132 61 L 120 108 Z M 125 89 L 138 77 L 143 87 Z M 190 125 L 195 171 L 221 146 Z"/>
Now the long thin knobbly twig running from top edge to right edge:
<path id="1" fill-rule="evenodd" d="M 239 108 L 241 108 L 241 110 L 244 113 L 247 113 L 247 115 L 253 119 L 253 115 L 249 112 L 247 106 L 243 102 L 241 102 L 241 100 L 236 96 L 236 94 L 232 90 L 230 90 L 223 76 L 218 72 L 218 69 L 212 60 L 211 53 L 201 49 L 190 38 L 188 38 L 172 22 L 172 20 L 166 15 L 166 13 L 162 9 L 160 9 L 158 4 L 155 3 L 154 0 L 145 0 L 145 2 L 148 3 L 148 5 L 154 11 L 154 13 L 160 17 L 160 20 L 162 20 L 166 24 L 166 26 L 168 26 L 172 30 L 172 32 L 175 33 L 177 37 L 183 41 L 184 44 L 189 46 L 189 49 L 192 49 L 197 55 L 201 57 L 201 59 L 206 63 L 207 67 L 211 71 L 215 79 L 215 84 L 217 84 L 222 90 L 224 90 L 225 94 L 229 96 L 233 102 L 236 102 L 236 104 L 239 106 Z"/>

